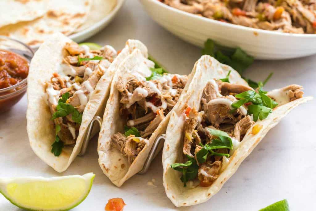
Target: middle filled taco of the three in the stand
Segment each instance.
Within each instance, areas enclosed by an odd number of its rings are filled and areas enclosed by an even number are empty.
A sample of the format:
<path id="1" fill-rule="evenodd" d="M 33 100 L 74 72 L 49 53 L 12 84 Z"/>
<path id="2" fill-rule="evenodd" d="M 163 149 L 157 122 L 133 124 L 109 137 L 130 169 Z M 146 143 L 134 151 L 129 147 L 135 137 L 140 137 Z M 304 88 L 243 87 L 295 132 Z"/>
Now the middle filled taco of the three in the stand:
<path id="1" fill-rule="evenodd" d="M 190 77 L 167 73 L 139 50 L 120 64 L 98 140 L 99 164 L 112 183 L 121 186 L 142 170 L 188 83 Z"/>

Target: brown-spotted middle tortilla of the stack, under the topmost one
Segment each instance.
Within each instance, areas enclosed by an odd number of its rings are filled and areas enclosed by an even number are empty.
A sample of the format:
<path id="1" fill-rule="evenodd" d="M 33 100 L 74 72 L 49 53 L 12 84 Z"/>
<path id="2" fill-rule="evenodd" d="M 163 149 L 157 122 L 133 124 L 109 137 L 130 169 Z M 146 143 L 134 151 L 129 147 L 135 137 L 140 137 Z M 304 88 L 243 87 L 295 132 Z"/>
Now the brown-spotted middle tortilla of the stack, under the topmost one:
<path id="1" fill-rule="evenodd" d="M 45 1 L 47 10 L 43 17 L 2 27 L 0 35 L 30 46 L 44 42 L 56 32 L 69 35 L 86 21 L 91 5 L 92 0 Z"/>

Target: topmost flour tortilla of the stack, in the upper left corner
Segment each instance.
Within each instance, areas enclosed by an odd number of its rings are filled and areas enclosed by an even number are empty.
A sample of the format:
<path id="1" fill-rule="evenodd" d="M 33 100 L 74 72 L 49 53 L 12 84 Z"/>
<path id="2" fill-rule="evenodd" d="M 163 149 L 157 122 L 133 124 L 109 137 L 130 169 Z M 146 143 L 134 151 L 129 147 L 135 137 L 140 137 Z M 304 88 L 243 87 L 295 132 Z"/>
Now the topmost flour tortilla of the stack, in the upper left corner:
<path id="1" fill-rule="evenodd" d="M 44 0 L 0 1 L 0 27 L 21 21 L 33 21 L 45 14 Z"/>

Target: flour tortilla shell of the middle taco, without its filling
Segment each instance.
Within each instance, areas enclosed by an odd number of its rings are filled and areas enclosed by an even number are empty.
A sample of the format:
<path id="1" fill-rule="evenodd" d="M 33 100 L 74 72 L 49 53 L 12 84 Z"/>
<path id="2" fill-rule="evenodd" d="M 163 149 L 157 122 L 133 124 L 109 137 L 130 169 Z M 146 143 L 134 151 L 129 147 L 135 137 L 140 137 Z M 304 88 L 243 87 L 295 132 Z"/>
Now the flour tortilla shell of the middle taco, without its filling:
<path id="1" fill-rule="evenodd" d="M 107 101 L 105 112 L 103 115 L 103 123 L 99 133 L 98 140 L 98 154 L 99 164 L 103 173 L 114 183 L 120 187 L 126 180 L 142 170 L 143 165 L 148 157 L 151 147 L 156 138 L 166 132 L 167 124 L 170 118 L 171 112 L 161 121 L 159 126 L 155 129 L 154 133 L 149 138 L 149 145 L 145 145 L 143 150 L 139 152 L 135 160 L 129 164 L 128 158 L 123 156 L 121 152 L 111 146 L 111 136 L 115 133 L 123 133 L 124 125 L 126 125 L 126 119 L 122 118 L 119 113 L 120 107 L 120 93 L 115 87 L 115 83 L 119 80 L 119 76 L 125 75 L 130 70 L 137 70 L 141 63 L 146 62 L 148 54 L 142 53 L 140 50 L 134 50 L 122 64 L 120 64 L 116 71 L 111 84 L 111 93 L 109 100 Z M 191 75 L 188 76 L 187 84 L 182 90 L 178 103 L 173 107 L 173 110 L 178 109 L 179 102 L 183 101 L 183 94 L 188 88 L 188 84 L 191 82 Z M 162 148 L 158 146 L 157 152 Z"/>

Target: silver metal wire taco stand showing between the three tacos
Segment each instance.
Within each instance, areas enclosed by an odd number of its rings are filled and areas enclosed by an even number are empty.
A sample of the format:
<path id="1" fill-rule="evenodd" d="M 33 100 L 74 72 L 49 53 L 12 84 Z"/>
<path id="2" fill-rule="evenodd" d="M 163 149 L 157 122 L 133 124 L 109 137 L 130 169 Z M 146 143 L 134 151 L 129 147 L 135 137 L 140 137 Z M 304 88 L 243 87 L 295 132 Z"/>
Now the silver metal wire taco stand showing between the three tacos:
<path id="1" fill-rule="evenodd" d="M 87 151 L 87 147 L 88 147 L 89 141 L 92 138 L 91 137 L 91 133 L 92 133 L 92 130 L 94 128 L 94 123 L 95 122 L 98 122 L 99 127 L 101 128 L 102 118 L 100 116 L 94 116 L 94 118 L 90 122 L 90 124 L 88 126 L 88 132 L 87 132 L 87 134 L 86 134 L 86 136 L 85 136 L 85 138 L 83 140 L 81 150 L 80 150 L 80 152 L 78 154 L 79 156 L 83 156 L 86 153 L 86 151 Z M 160 136 L 157 137 L 157 139 L 155 140 L 153 146 L 150 149 L 150 152 L 149 152 L 148 157 L 147 157 L 147 159 L 145 161 L 143 169 L 141 171 L 139 171 L 138 174 L 145 174 L 148 171 L 151 162 L 153 161 L 153 159 L 156 156 L 157 148 L 158 148 L 159 144 L 161 143 L 161 141 L 165 140 L 165 137 L 166 137 L 165 134 L 161 134 Z"/>

